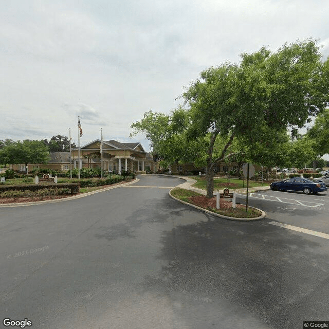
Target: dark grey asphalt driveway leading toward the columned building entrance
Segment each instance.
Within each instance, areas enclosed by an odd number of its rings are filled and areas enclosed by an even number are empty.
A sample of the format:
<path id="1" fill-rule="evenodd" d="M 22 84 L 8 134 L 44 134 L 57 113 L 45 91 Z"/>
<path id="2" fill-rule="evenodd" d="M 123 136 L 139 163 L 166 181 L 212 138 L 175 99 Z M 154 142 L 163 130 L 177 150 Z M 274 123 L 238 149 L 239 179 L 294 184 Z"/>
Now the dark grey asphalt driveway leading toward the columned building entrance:
<path id="1" fill-rule="evenodd" d="M 38 329 L 328 320 L 327 239 L 268 224 L 294 217 L 283 209 L 226 221 L 170 198 L 180 179 L 138 178 L 134 187 L 0 209 L 2 319 L 27 318 Z"/>

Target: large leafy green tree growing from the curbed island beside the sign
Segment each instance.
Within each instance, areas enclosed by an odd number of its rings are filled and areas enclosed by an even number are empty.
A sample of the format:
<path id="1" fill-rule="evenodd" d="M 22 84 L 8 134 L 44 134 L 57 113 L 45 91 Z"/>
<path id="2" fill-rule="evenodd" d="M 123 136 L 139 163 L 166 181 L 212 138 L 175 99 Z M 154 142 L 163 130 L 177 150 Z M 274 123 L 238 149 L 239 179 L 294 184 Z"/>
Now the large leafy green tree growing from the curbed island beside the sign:
<path id="1" fill-rule="evenodd" d="M 226 63 L 203 71 L 183 95 L 191 118 L 189 136 L 210 134 L 208 197 L 213 196 L 213 166 L 232 155 L 229 147 L 234 138 L 243 136 L 254 147 L 262 137 L 257 132 L 264 126 L 280 131 L 289 126 L 294 135 L 328 102 L 321 84 L 321 55 L 314 41 L 284 45 L 275 53 L 262 48 L 241 56 L 240 65 Z M 214 157 L 218 136 L 228 138 L 220 156 Z"/>

